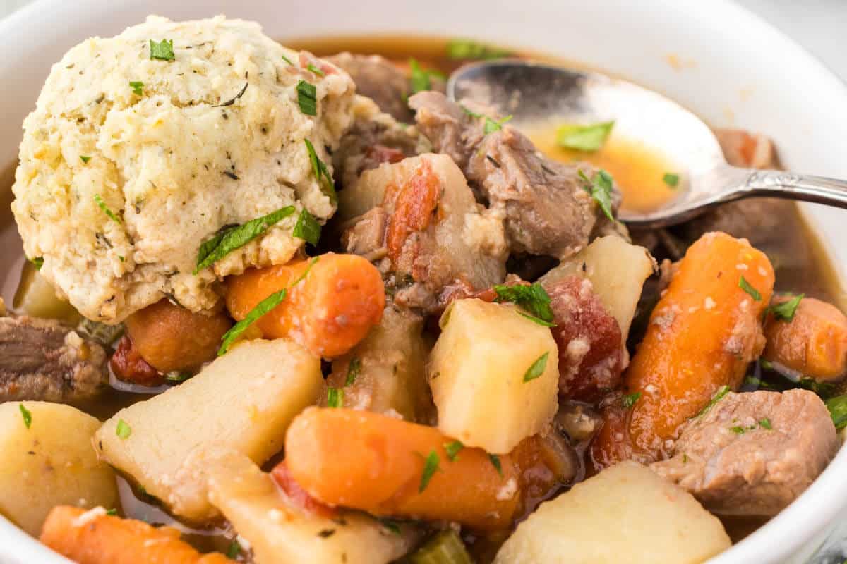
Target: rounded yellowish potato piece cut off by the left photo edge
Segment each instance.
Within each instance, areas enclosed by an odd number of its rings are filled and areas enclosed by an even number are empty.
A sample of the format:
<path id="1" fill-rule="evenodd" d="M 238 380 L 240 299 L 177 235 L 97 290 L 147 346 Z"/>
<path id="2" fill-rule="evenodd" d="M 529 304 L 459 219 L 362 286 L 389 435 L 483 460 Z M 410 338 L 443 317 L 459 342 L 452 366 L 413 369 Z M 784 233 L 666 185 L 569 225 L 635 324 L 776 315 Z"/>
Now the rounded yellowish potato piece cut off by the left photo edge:
<path id="1" fill-rule="evenodd" d="M 91 415 L 61 403 L 0 404 L 0 513 L 37 536 L 55 506 L 117 507 L 112 468 L 91 446 L 99 427 Z"/>

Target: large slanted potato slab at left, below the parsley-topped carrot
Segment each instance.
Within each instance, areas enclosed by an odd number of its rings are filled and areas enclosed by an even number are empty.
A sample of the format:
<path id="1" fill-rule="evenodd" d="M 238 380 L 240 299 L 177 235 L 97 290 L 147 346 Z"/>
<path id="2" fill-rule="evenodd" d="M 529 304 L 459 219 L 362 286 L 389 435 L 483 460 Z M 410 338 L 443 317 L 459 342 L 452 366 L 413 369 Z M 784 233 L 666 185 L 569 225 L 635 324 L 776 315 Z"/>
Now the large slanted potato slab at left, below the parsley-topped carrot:
<path id="1" fill-rule="evenodd" d="M 175 514 L 206 520 L 218 513 L 187 455 L 219 442 L 263 463 L 280 452 L 291 419 L 318 399 L 323 381 L 320 361 L 293 342 L 242 342 L 191 380 L 115 413 L 97 431 L 97 447 Z M 120 421 L 130 429 L 125 438 Z"/>

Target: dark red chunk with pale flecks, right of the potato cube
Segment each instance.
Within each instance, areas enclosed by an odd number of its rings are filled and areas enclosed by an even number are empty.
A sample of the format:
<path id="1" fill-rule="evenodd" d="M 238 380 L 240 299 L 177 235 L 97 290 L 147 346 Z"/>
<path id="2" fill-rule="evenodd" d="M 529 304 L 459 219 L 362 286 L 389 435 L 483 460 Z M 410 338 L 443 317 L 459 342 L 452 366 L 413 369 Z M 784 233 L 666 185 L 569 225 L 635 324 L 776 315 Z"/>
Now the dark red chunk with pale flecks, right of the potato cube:
<path id="1" fill-rule="evenodd" d="M 559 392 L 570 399 L 596 402 L 621 383 L 621 328 L 594 293 L 587 278 L 562 278 L 550 293 L 559 347 Z"/>

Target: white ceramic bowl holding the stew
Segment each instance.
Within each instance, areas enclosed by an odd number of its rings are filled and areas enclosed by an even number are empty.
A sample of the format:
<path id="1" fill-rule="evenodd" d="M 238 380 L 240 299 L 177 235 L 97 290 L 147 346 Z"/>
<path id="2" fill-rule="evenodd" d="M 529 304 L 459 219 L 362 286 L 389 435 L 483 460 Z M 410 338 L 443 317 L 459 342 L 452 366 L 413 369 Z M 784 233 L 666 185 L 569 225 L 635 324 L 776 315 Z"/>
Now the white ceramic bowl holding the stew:
<path id="1" fill-rule="evenodd" d="M 724 0 L 42 0 L 0 22 L 0 163 L 14 161 L 20 124 L 50 65 L 86 37 L 114 35 L 147 14 L 255 19 L 283 40 L 392 32 L 472 36 L 551 52 L 660 90 L 713 125 L 767 134 L 789 168 L 847 178 L 847 87 L 777 30 Z M 844 240 L 844 212 L 804 210 L 825 240 Z M 8 211 L 0 211 L 4 216 Z M 0 233 L 3 248 L 14 248 L 14 227 L 3 225 Z M 839 269 L 847 264 L 847 247 L 830 251 Z M 16 276 L 15 259 L 0 256 L 0 276 Z M 8 280 L 0 282 L 8 288 Z M 844 514 L 845 474 L 842 449 L 800 499 L 713 562 L 805 561 Z M 0 561 L 67 562 L 2 518 Z"/>

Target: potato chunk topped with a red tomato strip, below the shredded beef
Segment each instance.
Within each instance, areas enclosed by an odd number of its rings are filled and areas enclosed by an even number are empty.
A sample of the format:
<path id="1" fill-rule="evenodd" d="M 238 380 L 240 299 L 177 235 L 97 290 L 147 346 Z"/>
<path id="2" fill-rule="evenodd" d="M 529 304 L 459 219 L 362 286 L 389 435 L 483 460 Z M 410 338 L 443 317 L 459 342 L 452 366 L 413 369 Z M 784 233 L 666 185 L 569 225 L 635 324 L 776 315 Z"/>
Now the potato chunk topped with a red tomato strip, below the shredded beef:
<path id="1" fill-rule="evenodd" d="M 366 171 L 340 192 L 352 216 L 346 252 L 378 261 L 396 304 L 439 310 L 457 288 L 465 295 L 506 276 L 502 220 L 480 212 L 450 157 L 422 155 Z"/>

